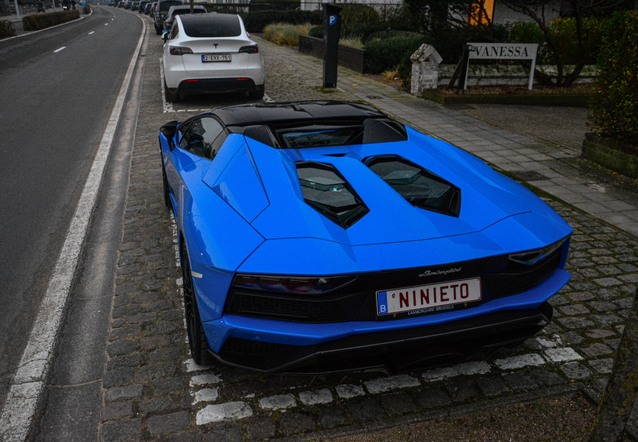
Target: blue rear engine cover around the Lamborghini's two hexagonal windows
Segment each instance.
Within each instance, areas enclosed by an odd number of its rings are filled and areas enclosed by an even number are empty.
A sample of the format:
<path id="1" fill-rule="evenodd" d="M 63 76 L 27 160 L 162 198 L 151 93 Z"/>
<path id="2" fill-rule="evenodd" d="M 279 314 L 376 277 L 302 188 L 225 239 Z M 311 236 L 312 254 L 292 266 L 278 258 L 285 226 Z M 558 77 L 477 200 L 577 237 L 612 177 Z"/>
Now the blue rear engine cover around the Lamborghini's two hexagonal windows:
<path id="1" fill-rule="evenodd" d="M 315 239 L 356 247 L 414 243 L 476 234 L 523 215 L 525 221 L 514 222 L 517 227 L 512 234 L 520 236 L 528 232 L 537 238 L 530 245 L 540 247 L 571 231 L 551 208 L 523 186 L 496 173 L 478 158 L 409 128 L 405 142 L 274 149 L 233 134 L 227 145 L 204 181 L 266 241 L 289 239 L 303 244 Z M 459 215 L 410 204 L 363 161 L 379 155 L 405 158 L 458 187 Z M 296 169 L 302 162 L 326 164 L 338 170 L 368 212 L 346 228 L 306 203 Z"/>

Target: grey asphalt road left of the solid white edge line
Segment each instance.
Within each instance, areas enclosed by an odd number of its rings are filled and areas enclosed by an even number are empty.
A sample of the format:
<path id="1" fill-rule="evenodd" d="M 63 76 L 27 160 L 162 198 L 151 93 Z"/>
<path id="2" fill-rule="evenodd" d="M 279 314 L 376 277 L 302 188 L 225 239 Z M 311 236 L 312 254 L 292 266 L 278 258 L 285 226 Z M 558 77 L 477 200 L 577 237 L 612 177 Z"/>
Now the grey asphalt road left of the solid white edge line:
<path id="1" fill-rule="evenodd" d="M 133 14 L 97 8 L 0 41 L 0 403 L 141 29 Z"/>

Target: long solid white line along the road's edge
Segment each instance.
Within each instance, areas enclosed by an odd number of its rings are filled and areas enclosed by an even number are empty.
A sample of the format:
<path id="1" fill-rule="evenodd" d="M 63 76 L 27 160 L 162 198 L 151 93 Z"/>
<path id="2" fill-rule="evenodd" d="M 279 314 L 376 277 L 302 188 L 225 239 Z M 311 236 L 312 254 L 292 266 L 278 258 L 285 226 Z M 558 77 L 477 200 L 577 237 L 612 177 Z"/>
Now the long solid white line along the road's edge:
<path id="1" fill-rule="evenodd" d="M 146 23 L 142 20 L 142 34 L 137 48 L 129 64 L 100 146 L 91 165 L 91 171 L 78 201 L 75 215 L 58 256 L 47 292 L 42 299 L 40 310 L 33 324 L 29 342 L 24 349 L 24 353 L 22 353 L 18 370 L 7 394 L 4 408 L 0 415 L 0 435 L 2 440 L 22 441 L 29 434 L 49 368 L 53 362 L 53 347 L 58 339 L 75 269 L 88 231 L 103 172 L 145 35 Z"/>

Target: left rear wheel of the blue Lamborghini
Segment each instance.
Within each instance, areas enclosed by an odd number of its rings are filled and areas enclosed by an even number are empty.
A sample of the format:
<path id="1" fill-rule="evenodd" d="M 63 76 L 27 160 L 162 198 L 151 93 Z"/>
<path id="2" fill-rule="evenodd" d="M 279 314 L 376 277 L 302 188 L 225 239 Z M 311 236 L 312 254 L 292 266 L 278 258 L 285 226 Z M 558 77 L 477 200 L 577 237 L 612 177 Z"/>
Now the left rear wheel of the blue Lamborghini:
<path id="1" fill-rule="evenodd" d="M 195 299 L 195 290 L 193 288 L 193 277 L 191 275 L 188 252 L 185 247 L 182 249 L 182 276 L 184 279 L 184 315 L 186 316 L 188 346 L 190 347 L 193 361 L 195 361 L 198 365 L 202 365 L 204 357 L 208 353 L 208 342 L 206 341 L 206 335 L 204 334 L 202 320 L 199 317 L 199 309 L 197 308 L 197 300 Z"/>

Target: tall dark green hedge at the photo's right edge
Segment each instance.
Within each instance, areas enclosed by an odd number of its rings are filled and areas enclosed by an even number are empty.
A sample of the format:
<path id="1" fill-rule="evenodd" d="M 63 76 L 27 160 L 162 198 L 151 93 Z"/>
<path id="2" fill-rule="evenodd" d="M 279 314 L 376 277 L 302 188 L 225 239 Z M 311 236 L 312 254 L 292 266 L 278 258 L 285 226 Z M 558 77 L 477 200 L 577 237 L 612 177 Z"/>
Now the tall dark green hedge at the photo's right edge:
<path id="1" fill-rule="evenodd" d="M 638 146 L 638 12 L 613 16 L 598 57 L 591 121 L 603 137 Z"/>

